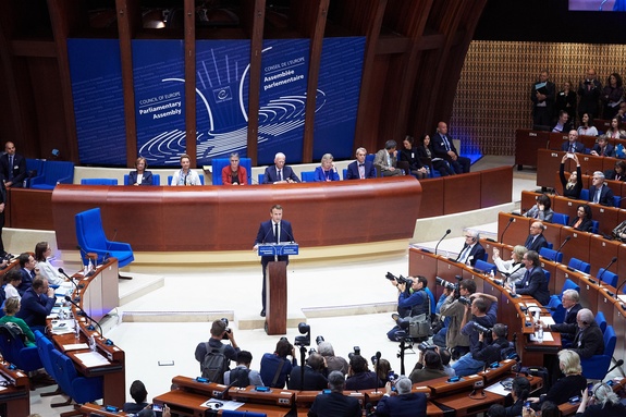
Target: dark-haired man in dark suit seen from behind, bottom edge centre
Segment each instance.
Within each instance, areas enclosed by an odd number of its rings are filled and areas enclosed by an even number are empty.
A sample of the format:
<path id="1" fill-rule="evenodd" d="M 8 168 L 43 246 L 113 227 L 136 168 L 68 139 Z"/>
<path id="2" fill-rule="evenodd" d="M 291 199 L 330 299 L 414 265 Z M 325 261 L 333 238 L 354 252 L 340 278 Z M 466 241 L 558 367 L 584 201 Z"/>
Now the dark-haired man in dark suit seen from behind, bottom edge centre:
<path id="1" fill-rule="evenodd" d="M 308 417 L 360 417 L 361 409 L 358 400 L 344 395 L 345 377 L 335 370 L 328 376 L 330 393 L 316 396 Z"/>

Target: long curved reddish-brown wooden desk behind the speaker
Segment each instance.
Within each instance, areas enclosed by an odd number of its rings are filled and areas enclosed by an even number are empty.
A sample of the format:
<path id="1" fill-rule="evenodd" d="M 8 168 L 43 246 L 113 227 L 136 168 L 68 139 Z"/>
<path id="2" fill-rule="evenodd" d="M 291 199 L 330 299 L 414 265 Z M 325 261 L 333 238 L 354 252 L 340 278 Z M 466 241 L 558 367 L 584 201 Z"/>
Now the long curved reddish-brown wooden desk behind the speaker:
<path id="1" fill-rule="evenodd" d="M 413 176 L 241 187 L 58 185 L 60 249 L 76 249 L 74 216 L 100 207 L 107 236 L 137 252 L 249 250 L 272 205 L 284 207 L 303 247 L 409 238 L 421 185 Z M 398 216 L 401 213 L 401 216 Z"/>

